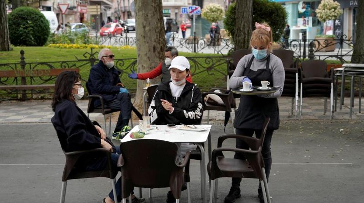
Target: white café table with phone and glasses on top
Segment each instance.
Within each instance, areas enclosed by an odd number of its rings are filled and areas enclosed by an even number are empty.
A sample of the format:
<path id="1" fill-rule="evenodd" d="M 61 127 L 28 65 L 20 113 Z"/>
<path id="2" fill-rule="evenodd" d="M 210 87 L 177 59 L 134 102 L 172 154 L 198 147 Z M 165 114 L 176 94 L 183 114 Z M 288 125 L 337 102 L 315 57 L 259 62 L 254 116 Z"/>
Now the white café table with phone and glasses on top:
<path id="1" fill-rule="evenodd" d="M 201 151 L 201 196 L 203 202 L 206 202 L 206 167 L 205 167 L 205 149 L 202 143 L 209 138 L 211 125 L 195 125 L 198 128 L 206 128 L 203 131 L 180 130 L 183 126 L 177 125 L 176 128 L 169 128 L 166 125 L 151 125 L 153 129 L 149 131 L 143 138 L 138 139 L 157 139 L 168 142 L 190 142 L 196 144 Z M 134 141 L 138 139 L 130 138 L 131 132 L 138 131 L 138 126 L 133 127 L 131 131 L 121 140 L 121 142 Z M 210 144 L 210 143 L 209 143 Z M 209 146 L 210 147 L 210 146 Z"/>

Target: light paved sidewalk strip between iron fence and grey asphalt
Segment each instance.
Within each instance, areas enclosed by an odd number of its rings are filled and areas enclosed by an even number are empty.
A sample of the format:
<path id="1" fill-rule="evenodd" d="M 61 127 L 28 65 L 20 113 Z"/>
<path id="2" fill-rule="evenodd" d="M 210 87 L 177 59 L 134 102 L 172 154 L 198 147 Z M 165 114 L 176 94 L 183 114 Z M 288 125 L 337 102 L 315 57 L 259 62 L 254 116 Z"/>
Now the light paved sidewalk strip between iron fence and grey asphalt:
<path id="1" fill-rule="evenodd" d="M 237 103 L 239 100 L 236 100 Z M 324 115 L 324 98 L 303 98 L 302 106 L 302 120 L 326 120 L 331 119 L 328 109 Z M 339 103 L 337 105 L 337 111 L 334 113 L 334 119 L 350 119 L 349 118 L 349 97 L 345 98 L 343 110 L 339 110 Z M 363 101 L 364 102 L 364 101 Z M 78 106 L 87 113 L 88 100 L 78 101 Z M 299 116 L 291 113 L 292 98 L 281 97 L 278 98 L 280 118 L 281 120 L 294 120 L 299 119 Z M 364 113 L 359 113 L 359 98 L 355 98 L 355 107 L 353 107 L 352 119 L 363 119 Z M 364 108 L 363 108 L 364 111 Z M 115 113 L 117 114 L 117 113 Z M 224 119 L 224 112 L 222 111 L 211 111 L 210 121 L 222 122 Z M 0 123 L 43 123 L 50 122 L 54 113 L 51 109 L 51 100 L 32 100 L 32 101 L 3 101 L 0 102 Z M 234 113 L 232 113 L 234 116 Z M 101 114 L 91 113 L 91 120 L 103 122 Z M 117 116 L 113 116 L 117 118 Z M 207 111 L 203 114 L 203 122 L 207 121 Z M 112 122 L 116 122 L 116 119 L 112 119 Z"/>

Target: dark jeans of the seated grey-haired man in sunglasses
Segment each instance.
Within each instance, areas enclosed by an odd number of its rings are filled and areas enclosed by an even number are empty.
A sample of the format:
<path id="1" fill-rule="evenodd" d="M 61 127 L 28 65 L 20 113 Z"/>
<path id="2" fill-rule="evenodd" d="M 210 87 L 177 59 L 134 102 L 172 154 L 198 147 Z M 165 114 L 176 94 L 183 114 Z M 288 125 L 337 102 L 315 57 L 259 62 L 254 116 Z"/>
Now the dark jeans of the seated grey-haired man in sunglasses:
<path id="1" fill-rule="evenodd" d="M 120 109 L 118 122 L 116 123 L 115 129 L 121 130 L 123 119 L 131 118 L 131 101 L 128 93 L 119 93 L 115 100 L 105 103 L 105 108 Z"/>

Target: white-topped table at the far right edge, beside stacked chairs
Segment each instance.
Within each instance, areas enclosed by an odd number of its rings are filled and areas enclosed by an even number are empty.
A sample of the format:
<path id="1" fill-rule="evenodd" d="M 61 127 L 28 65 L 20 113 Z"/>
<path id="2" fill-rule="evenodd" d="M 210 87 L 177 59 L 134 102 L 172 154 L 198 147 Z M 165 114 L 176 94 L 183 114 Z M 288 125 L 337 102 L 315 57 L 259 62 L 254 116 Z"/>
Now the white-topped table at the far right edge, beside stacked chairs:
<path id="1" fill-rule="evenodd" d="M 343 64 L 343 67 L 334 69 L 335 72 L 341 72 L 341 91 L 340 91 L 340 110 L 344 103 L 344 88 L 345 88 L 345 76 L 351 76 L 351 88 L 350 88 L 350 115 L 352 117 L 352 106 L 354 104 L 354 77 L 360 77 L 359 81 L 359 110 L 361 105 L 361 77 L 364 74 L 364 64 Z M 339 74 L 335 74 L 339 75 Z M 336 87 L 337 88 L 337 87 Z M 335 105 L 336 106 L 336 105 Z"/>

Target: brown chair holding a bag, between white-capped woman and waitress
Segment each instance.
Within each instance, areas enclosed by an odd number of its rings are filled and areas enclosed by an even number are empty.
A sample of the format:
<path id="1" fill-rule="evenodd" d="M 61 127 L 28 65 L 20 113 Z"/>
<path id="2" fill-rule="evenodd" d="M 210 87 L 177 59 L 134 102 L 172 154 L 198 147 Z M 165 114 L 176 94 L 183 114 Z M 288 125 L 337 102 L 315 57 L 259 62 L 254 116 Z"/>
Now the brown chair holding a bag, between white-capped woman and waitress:
<path id="1" fill-rule="evenodd" d="M 215 90 L 220 90 L 222 93 L 217 93 L 214 92 Z M 217 96 L 219 96 L 221 98 L 221 100 L 224 102 L 224 105 L 213 105 L 210 103 L 205 102 L 205 97 L 207 96 L 207 94 L 215 94 Z M 232 112 L 232 109 L 236 109 L 236 103 L 234 100 L 234 96 L 233 93 L 230 92 L 230 90 L 227 89 L 222 89 L 222 88 L 212 88 L 210 89 L 209 92 L 203 92 L 202 93 L 202 108 L 203 111 L 207 110 L 207 124 L 210 123 L 210 110 L 214 110 L 214 111 L 225 111 L 225 112 Z M 230 117 L 229 120 L 232 123 L 234 123 L 234 118 Z M 225 123 L 226 124 L 226 123 Z M 233 131 L 235 133 L 235 128 L 233 126 Z"/>

